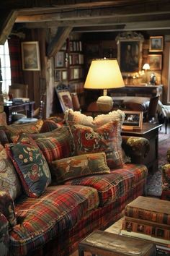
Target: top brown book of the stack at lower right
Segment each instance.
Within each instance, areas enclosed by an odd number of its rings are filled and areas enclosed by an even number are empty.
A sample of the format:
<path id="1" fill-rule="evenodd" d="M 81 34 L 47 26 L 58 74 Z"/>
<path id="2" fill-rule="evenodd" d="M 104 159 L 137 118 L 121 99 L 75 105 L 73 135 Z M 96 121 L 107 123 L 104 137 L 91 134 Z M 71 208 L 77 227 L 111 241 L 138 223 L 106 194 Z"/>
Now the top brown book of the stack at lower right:
<path id="1" fill-rule="evenodd" d="M 170 225 L 170 201 L 140 196 L 126 205 L 125 216 Z"/>

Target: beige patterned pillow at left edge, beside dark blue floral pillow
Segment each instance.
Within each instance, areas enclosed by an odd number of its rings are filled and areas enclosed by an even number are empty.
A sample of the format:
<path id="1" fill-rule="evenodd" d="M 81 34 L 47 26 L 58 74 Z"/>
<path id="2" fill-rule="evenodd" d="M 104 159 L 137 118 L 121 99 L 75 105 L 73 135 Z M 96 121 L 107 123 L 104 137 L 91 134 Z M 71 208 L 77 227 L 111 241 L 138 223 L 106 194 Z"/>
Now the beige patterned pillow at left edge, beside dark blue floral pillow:
<path id="1" fill-rule="evenodd" d="M 2 145 L 0 145 L 0 189 L 9 193 L 13 200 L 22 192 L 17 172 Z"/>

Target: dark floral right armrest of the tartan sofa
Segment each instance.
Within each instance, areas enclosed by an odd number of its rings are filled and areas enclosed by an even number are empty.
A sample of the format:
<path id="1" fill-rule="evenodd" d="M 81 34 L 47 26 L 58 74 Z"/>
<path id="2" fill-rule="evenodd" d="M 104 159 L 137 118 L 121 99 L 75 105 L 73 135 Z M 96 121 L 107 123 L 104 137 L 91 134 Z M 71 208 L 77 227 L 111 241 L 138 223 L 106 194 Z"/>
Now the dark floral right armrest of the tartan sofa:
<path id="1" fill-rule="evenodd" d="M 143 163 L 150 150 L 150 143 L 143 137 L 122 136 L 122 149 L 132 163 Z"/>

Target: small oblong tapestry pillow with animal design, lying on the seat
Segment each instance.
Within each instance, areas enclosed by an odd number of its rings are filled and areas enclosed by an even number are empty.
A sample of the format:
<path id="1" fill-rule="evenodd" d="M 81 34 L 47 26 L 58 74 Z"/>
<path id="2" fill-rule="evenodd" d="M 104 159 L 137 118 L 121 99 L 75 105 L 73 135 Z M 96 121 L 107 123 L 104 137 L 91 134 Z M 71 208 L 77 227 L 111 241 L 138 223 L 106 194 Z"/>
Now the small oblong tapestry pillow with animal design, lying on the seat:
<path id="1" fill-rule="evenodd" d="M 58 183 L 69 179 L 110 172 L 105 153 L 77 155 L 52 162 L 53 174 Z"/>

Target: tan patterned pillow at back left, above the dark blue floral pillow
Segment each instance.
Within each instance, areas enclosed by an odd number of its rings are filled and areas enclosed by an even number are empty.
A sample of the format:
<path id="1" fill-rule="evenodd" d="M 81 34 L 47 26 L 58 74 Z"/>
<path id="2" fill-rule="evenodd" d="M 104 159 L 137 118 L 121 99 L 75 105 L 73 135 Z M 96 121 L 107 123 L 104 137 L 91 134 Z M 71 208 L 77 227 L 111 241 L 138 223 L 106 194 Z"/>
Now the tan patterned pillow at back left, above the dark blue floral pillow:
<path id="1" fill-rule="evenodd" d="M 37 120 L 35 122 L 22 124 L 22 125 L 21 124 L 6 125 L 5 132 L 9 139 L 9 142 L 17 142 L 19 135 L 22 134 L 23 132 L 27 134 L 40 132 L 42 124 L 43 124 L 42 120 Z"/>

